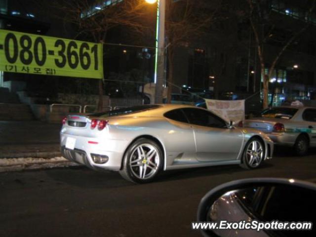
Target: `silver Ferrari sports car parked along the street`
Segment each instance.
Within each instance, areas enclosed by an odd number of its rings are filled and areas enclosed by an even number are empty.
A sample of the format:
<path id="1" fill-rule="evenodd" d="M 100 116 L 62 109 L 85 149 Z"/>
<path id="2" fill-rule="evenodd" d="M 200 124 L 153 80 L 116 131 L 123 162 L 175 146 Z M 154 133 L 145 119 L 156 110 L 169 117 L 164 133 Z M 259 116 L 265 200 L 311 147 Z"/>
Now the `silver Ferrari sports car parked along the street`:
<path id="1" fill-rule="evenodd" d="M 65 158 L 114 170 L 137 183 L 159 171 L 240 164 L 251 169 L 271 158 L 263 132 L 238 128 L 189 105 L 143 105 L 89 116 L 70 115 L 60 132 Z"/>

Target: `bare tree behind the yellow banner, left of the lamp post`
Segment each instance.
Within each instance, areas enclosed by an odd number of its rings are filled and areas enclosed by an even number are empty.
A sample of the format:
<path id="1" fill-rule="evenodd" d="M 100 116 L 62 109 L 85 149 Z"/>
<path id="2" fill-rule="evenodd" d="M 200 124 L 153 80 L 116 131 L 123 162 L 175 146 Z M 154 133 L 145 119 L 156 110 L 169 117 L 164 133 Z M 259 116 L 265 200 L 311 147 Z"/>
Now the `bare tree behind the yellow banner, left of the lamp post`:
<path id="1" fill-rule="evenodd" d="M 48 7 L 57 11 L 54 16 L 76 27 L 80 40 L 105 43 L 111 29 L 122 26 L 134 34 L 144 34 L 148 24 L 144 17 L 148 13 L 145 0 L 124 0 L 107 5 L 109 1 L 91 0 L 52 0 L 47 1 Z M 41 3 L 43 4 L 43 3 Z M 47 5 L 46 5 L 47 6 Z M 103 107 L 103 85 L 99 81 L 98 110 Z"/>

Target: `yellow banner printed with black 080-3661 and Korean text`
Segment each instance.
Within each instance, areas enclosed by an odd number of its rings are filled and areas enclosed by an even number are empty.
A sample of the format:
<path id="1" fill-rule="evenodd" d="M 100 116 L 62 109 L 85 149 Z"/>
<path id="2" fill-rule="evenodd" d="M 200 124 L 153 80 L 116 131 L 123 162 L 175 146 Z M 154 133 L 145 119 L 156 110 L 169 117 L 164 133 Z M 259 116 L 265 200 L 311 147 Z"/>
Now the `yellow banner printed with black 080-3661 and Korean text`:
<path id="1" fill-rule="evenodd" d="M 0 71 L 103 79 L 103 45 L 0 30 Z"/>

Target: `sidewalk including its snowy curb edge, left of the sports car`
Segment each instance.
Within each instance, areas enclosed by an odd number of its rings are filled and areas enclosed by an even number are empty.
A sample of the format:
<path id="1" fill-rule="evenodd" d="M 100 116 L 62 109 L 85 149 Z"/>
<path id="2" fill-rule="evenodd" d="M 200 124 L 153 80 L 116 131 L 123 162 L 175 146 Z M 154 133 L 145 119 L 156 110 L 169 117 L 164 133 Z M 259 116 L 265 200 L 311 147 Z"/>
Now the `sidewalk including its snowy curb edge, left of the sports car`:
<path id="1" fill-rule="evenodd" d="M 68 167 L 59 148 L 61 124 L 0 121 L 0 172 Z"/>

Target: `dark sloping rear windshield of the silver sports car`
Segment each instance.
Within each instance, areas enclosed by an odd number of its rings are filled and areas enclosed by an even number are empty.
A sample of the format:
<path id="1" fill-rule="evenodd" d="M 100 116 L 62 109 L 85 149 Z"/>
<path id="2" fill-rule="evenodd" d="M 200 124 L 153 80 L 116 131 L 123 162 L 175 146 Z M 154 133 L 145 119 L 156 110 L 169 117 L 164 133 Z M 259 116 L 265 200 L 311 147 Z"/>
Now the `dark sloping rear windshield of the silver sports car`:
<path id="1" fill-rule="evenodd" d="M 90 117 L 112 117 L 112 116 L 119 116 L 119 115 L 129 115 L 133 113 L 143 112 L 147 110 L 153 110 L 159 108 L 159 105 L 140 105 L 140 106 L 133 106 L 119 110 L 111 110 L 106 112 L 100 112 L 96 114 L 89 115 Z"/>

